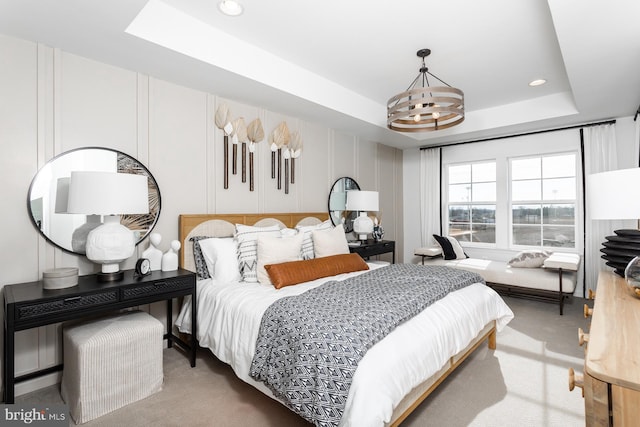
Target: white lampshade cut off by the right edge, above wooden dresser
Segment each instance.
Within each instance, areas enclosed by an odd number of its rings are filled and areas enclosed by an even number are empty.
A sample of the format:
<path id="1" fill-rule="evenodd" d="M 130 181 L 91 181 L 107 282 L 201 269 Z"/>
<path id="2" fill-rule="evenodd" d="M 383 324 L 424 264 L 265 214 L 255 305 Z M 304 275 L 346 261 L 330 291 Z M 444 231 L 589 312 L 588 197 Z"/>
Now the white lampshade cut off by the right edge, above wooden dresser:
<path id="1" fill-rule="evenodd" d="M 589 175 L 587 203 L 591 219 L 640 219 L 640 168 Z"/>

